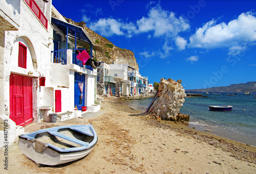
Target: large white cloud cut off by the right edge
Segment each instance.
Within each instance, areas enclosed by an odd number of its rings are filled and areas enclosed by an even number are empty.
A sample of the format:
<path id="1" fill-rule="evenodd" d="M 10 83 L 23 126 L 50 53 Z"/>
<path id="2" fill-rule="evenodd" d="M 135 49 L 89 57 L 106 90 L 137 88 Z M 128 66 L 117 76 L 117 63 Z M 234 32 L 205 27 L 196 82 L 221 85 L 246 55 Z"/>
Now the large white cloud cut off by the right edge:
<path id="1" fill-rule="evenodd" d="M 247 12 L 227 24 L 225 22 L 216 24 L 216 20 L 211 20 L 190 36 L 189 40 L 189 47 L 206 49 L 251 43 L 256 41 L 256 18 L 252 13 Z"/>

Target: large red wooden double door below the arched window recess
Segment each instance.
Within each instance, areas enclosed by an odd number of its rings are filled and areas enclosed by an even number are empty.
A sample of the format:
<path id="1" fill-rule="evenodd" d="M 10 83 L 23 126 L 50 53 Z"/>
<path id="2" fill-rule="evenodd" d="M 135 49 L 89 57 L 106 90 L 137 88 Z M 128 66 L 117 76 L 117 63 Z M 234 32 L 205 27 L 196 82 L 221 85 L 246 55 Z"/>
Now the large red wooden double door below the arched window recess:
<path id="1" fill-rule="evenodd" d="M 10 75 L 10 118 L 19 126 L 33 121 L 32 78 Z"/>

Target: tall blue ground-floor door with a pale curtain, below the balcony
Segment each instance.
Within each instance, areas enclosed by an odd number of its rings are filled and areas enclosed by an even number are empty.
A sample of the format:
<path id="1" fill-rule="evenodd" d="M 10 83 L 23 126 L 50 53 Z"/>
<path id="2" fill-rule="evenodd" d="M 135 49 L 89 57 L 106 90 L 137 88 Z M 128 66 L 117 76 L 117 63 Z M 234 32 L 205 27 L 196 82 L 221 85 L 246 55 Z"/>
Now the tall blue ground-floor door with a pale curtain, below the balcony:
<path id="1" fill-rule="evenodd" d="M 75 106 L 78 110 L 82 110 L 82 107 L 84 106 L 84 94 L 85 94 L 85 81 L 86 81 L 86 75 L 82 74 L 80 75 L 78 72 L 75 72 Z M 79 88 L 79 85 L 82 85 L 82 93 Z"/>

